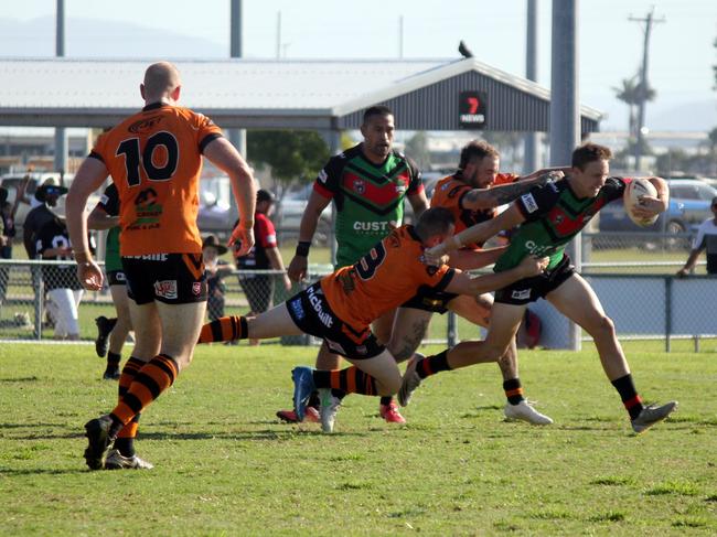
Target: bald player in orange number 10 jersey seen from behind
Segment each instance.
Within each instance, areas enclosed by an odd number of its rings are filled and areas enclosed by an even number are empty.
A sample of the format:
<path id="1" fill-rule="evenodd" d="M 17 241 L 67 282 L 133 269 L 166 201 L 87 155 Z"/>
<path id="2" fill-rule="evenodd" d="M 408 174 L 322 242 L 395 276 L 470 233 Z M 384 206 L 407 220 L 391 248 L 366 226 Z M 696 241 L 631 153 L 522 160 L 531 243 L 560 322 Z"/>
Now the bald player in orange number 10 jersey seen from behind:
<path id="1" fill-rule="evenodd" d="M 136 336 L 119 379 L 118 405 L 85 425 L 85 461 L 92 470 L 151 468 L 133 445 L 131 452 L 107 451 L 192 359 L 207 294 L 196 227 L 202 155 L 232 181 L 242 218 L 229 244 L 240 243 L 238 255 L 254 245 L 252 171 L 211 119 L 178 106 L 181 89 L 174 65 L 150 65 L 140 85 L 145 108 L 97 139 L 67 196 L 77 273 L 85 289 L 97 291 L 103 273 L 87 246 L 85 205 L 107 175 L 117 186 L 120 256 Z"/>

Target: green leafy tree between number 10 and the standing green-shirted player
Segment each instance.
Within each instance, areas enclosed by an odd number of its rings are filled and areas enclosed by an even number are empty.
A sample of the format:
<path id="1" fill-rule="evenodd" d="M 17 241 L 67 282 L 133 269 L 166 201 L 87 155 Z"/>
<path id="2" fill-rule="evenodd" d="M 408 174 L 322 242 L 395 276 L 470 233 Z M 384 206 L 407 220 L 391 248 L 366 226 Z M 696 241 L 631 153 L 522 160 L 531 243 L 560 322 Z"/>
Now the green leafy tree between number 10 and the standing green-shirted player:
<path id="1" fill-rule="evenodd" d="M 315 131 L 250 130 L 247 153 L 254 165 L 271 167 L 275 180 L 307 183 L 329 160 L 329 147 Z"/>

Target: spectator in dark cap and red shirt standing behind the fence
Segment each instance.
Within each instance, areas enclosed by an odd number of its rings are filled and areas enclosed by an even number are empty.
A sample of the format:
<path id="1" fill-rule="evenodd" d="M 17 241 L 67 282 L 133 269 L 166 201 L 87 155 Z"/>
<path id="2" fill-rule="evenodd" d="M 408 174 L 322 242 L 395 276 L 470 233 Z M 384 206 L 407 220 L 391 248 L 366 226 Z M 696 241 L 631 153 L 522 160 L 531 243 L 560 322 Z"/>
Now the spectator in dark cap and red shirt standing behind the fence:
<path id="1" fill-rule="evenodd" d="M 236 268 L 244 273 L 239 275 L 239 283 L 249 302 L 249 314 L 259 314 L 272 305 L 274 275 L 256 273 L 256 270 L 281 270 L 281 280 L 287 291 L 291 290 L 291 280 L 283 268 L 283 260 L 277 244 L 277 232 L 269 219 L 274 213 L 275 196 L 271 192 L 259 189 L 256 193 L 256 214 L 254 215 L 255 244 L 249 254 L 236 259 Z M 250 340 L 250 344 L 258 345 L 258 340 Z"/>

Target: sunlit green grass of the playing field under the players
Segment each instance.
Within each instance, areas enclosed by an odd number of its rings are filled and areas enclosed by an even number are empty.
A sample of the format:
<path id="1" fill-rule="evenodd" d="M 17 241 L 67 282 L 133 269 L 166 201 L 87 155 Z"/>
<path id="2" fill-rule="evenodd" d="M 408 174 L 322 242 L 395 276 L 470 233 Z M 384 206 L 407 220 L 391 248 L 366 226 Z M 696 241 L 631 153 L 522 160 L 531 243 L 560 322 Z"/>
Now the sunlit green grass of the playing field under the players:
<path id="1" fill-rule="evenodd" d="M 349 397 L 324 436 L 274 418 L 315 350 L 201 347 L 142 418 L 157 468 L 89 472 L 82 426 L 116 397 L 103 362 L 3 345 L 0 535 L 715 535 L 715 355 L 641 347 L 627 345 L 643 397 L 681 402 L 641 437 L 592 348 L 521 353 L 552 427 L 503 422 L 485 365 L 427 380 L 405 427 Z"/>

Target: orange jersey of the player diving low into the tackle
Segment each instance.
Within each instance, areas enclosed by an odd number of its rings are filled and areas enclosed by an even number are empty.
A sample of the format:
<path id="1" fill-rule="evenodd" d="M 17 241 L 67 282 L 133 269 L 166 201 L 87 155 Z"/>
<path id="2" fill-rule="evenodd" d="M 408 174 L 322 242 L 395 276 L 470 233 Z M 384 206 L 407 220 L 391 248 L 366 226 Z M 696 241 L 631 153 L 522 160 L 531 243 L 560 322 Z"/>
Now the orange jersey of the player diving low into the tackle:
<path id="1" fill-rule="evenodd" d="M 393 230 L 356 264 L 321 280 L 329 305 L 353 327 L 371 324 L 418 292 L 419 286 L 442 290 L 456 269 L 421 262 L 424 246 L 413 226 Z"/>

